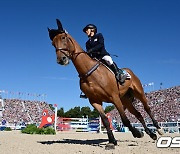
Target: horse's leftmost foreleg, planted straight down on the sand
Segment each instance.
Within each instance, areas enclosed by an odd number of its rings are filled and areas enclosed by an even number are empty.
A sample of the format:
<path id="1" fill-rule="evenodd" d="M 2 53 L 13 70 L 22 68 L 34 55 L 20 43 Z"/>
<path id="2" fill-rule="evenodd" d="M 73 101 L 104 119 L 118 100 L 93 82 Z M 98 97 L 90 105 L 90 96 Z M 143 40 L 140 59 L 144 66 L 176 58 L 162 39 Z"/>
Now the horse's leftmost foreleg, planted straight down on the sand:
<path id="1" fill-rule="evenodd" d="M 110 124 L 109 124 L 108 118 L 106 117 L 106 115 L 104 113 L 104 109 L 102 107 L 102 102 L 95 103 L 94 101 L 90 100 L 90 103 L 100 114 L 100 117 L 102 119 L 103 125 L 106 128 L 106 130 L 107 130 L 107 135 L 108 135 L 109 143 L 113 143 L 114 145 L 117 145 L 117 141 L 114 138 L 114 135 L 113 135 L 112 130 L 110 128 Z"/>

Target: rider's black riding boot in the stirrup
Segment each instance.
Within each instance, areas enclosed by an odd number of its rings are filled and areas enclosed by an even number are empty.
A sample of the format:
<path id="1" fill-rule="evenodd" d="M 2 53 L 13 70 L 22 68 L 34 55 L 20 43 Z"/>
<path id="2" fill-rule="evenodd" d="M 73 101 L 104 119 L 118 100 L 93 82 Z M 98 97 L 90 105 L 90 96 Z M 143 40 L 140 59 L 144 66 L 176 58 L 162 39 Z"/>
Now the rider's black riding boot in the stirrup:
<path id="1" fill-rule="evenodd" d="M 124 81 L 126 80 L 126 74 L 123 73 L 123 71 L 121 69 L 119 69 L 116 65 L 116 63 L 113 63 L 111 66 L 112 71 L 114 72 L 116 79 L 120 82 L 120 83 L 124 83 Z"/>

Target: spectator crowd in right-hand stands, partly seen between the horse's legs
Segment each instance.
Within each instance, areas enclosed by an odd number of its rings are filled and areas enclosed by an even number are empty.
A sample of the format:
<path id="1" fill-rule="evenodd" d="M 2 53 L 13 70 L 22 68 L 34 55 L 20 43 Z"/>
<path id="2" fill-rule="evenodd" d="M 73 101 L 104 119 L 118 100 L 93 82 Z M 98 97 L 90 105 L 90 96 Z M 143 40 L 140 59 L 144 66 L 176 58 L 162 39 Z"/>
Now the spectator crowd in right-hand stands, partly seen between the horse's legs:
<path id="1" fill-rule="evenodd" d="M 146 98 L 148 99 L 148 105 L 158 122 L 180 121 L 180 86 L 146 93 Z M 139 100 L 135 99 L 133 105 L 141 113 L 145 122 L 152 122 Z M 117 109 L 112 110 L 110 113 L 113 119 L 118 123 L 121 122 Z M 131 123 L 139 123 L 137 118 L 127 109 L 125 113 Z"/>

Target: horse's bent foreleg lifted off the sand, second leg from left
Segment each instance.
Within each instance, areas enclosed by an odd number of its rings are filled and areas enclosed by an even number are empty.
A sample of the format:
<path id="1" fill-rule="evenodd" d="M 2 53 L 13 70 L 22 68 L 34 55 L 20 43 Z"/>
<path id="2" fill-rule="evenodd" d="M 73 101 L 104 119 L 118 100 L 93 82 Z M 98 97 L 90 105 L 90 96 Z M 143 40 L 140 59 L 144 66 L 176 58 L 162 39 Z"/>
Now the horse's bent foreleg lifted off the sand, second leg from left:
<path id="1" fill-rule="evenodd" d="M 123 124 L 129 128 L 129 130 L 132 132 L 133 136 L 138 137 L 138 138 L 143 137 L 144 134 L 142 132 L 140 132 L 138 129 L 136 129 L 135 127 L 132 127 L 132 125 L 130 124 L 129 119 L 127 118 L 127 116 L 124 112 L 124 108 L 123 108 L 121 100 L 119 99 L 119 96 L 114 98 L 114 105 L 116 106 L 117 110 L 119 111 L 119 114 L 121 116 Z"/>

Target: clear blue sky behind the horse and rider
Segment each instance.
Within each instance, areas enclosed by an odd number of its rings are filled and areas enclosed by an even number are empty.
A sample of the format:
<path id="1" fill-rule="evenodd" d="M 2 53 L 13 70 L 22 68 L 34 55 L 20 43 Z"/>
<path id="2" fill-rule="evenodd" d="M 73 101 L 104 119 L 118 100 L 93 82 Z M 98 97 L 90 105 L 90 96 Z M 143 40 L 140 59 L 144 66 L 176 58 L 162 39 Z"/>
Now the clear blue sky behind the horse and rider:
<path id="1" fill-rule="evenodd" d="M 65 110 L 90 106 L 79 98 L 72 65 L 56 64 L 47 27 L 55 19 L 85 49 L 85 25 L 103 33 L 106 49 L 119 67 L 132 69 L 154 90 L 180 85 L 179 0 L 1 0 L 0 90 L 47 94 Z M 22 96 L 23 97 L 23 96 Z"/>

